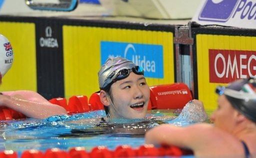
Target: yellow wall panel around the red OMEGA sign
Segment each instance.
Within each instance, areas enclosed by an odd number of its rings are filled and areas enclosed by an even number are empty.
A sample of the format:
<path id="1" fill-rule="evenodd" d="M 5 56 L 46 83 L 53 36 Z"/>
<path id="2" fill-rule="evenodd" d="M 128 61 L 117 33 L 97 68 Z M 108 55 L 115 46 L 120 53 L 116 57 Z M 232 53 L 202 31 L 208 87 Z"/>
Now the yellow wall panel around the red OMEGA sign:
<path id="1" fill-rule="evenodd" d="M 212 111 L 217 106 L 217 95 L 215 88 L 223 83 L 210 83 L 209 79 L 209 49 L 225 50 L 232 53 L 234 50 L 247 51 L 248 54 L 256 51 L 256 37 L 229 36 L 229 35 L 196 35 L 197 54 L 197 77 L 198 77 L 198 99 L 203 101 L 205 109 Z M 252 53 L 250 51 L 253 51 Z"/>

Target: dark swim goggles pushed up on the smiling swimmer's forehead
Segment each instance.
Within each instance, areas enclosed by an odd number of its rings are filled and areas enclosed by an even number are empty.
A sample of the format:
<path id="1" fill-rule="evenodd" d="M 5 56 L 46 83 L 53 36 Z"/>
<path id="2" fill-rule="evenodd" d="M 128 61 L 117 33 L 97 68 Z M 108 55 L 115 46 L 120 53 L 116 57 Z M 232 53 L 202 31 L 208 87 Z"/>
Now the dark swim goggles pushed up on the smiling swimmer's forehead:
<path id="1" fill-rule="evenodd" d="M 107 78 L 105 79 L 105 84 L 104 84 L 103 87 L 106 87 L 107 85 L 111 85 L 111 84 L 113 84 L 114 82 L 116 82 L 118 80 L 122 80 L 122 79 L 128 77 L 131 71 L 134 72 L 137 75 L 144 75 L 144 70 L 141 66 L 134 66 L 130 69 L 121 69 L 117 73 L 116 73 L 116 70 L 115 70 L 107 76 Z M 112 79 L 112 81 L 111 81 L 111 79 Z"/>

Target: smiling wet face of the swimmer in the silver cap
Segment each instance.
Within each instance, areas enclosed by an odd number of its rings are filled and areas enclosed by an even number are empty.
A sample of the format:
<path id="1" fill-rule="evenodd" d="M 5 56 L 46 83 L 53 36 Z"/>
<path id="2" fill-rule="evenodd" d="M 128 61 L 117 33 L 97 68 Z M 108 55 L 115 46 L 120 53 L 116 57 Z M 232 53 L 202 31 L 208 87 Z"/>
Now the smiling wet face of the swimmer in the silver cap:
<path id="1" fill-rule="evenodd" d="M 129 76 L 111 85 L 113 102 L 109 101 L 111 118 L 142 119 L 147 112 L 149 87 L 143 75 Z"/>

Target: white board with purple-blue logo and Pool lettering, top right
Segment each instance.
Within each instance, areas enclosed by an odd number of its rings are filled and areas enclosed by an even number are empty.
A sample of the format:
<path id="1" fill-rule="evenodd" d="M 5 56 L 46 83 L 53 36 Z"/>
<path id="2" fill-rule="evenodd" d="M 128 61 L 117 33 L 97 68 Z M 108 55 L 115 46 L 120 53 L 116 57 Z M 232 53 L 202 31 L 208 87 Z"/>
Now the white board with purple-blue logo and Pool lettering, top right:
<path id="1" fill-rule="evenodd" d="M 256 28 L 256 0 L 203 0 L 192 18 L 201 25 Z"/>

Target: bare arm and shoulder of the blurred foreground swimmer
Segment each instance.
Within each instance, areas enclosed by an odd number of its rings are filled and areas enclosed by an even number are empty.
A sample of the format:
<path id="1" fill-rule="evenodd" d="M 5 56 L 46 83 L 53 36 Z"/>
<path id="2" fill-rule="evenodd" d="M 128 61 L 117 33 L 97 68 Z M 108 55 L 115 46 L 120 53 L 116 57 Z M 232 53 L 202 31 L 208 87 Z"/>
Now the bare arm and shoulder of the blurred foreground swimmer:
<path id="1" fill-rule="evenodd" d="M 210 124 L 195 124 L 184 128 L 160 125 L 146 133 L 145 143 L 190 149 L 194 156 L 200 158 L 244 157 L 239 139 Z"/>

